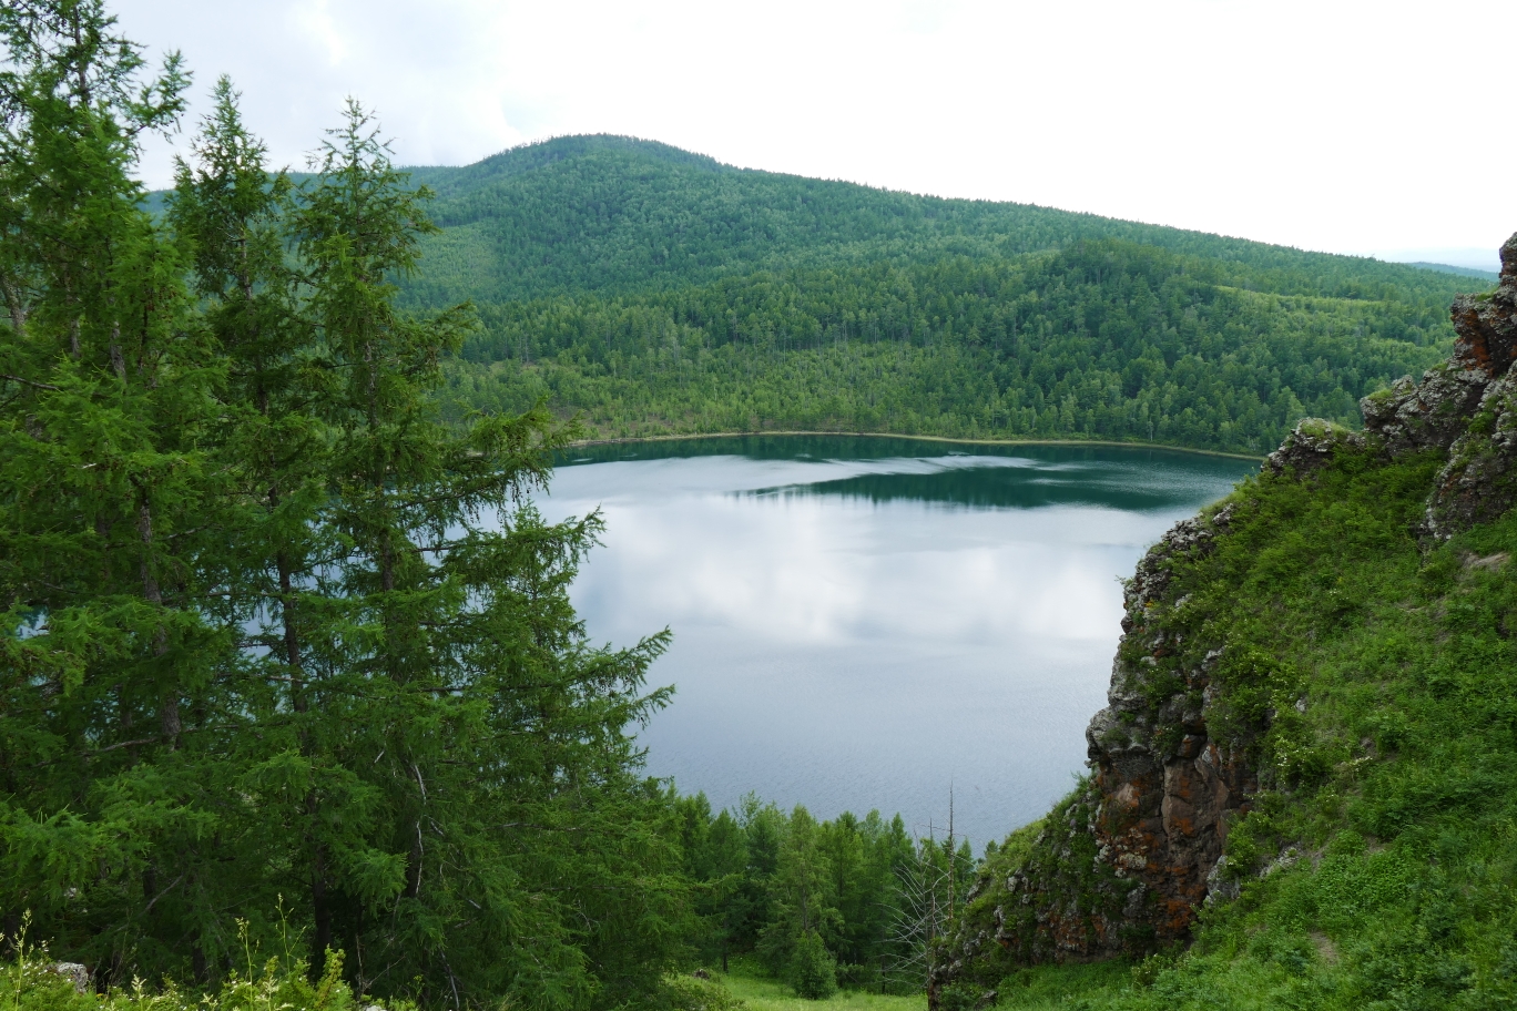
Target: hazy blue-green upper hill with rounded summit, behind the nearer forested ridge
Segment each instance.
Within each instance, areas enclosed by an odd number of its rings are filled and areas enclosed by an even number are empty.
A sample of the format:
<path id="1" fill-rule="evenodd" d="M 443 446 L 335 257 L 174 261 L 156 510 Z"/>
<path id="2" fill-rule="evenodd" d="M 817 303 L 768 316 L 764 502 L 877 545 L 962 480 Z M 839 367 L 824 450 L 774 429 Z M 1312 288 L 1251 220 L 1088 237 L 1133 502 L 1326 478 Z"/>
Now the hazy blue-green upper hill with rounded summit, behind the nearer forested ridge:
<path id="1" fill-rule="evenodd" d="M 1447 305 L 1468 286 L 1417 267 L 1092 214 L 740 170 L 623 136 L 564 136 L 411 173 L 435 191 L 443 227 L 407 286 L 425 305 L 672 288 L 760 267 L 1009 258 L 1100 238 L 1233 262 L 1261 288 L 1292 294 Z"/>

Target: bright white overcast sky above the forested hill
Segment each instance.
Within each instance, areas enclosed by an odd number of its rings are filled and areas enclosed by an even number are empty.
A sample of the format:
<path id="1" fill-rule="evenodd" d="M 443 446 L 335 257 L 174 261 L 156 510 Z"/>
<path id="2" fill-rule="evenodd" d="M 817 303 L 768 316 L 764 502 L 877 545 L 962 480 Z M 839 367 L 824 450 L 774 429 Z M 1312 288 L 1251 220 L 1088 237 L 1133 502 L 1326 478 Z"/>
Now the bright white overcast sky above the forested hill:
<path id="1" fill-rule="evenodd" d="M 344 95 L 404 164 L 628 133 L 734 165 L 1494 268 L 1511 0 L 117 0 L 299 167 Z M 203 109 L 203 103 L 200 106 Z M 179 138 L 184 142 L 184 136 Z M 170 174 L 168 147 L 144 164 Z"/>

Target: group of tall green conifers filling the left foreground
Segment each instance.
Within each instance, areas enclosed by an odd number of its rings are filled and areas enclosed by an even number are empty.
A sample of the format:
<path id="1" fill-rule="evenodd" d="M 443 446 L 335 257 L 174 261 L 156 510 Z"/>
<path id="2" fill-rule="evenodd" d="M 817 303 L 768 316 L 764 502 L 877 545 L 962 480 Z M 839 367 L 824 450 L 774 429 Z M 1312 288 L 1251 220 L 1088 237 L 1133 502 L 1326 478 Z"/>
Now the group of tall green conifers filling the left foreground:
<path id="1" fill-rule="evenodd" d="M 689 888 L 631 731 L 667 635 L 586 641 L 599 521 L 526 503 L 572 429 L 438 415 L 473 321 L 396 306 L 426 192 L 356 105 L 316 176 L 270 174 L 221 82 L 150 217 L 177 62 L 141 80 L 93 0 L 0 33 L 6 932 L 217 991 L 281 909 L 366 999 L 655 991 Z"/>

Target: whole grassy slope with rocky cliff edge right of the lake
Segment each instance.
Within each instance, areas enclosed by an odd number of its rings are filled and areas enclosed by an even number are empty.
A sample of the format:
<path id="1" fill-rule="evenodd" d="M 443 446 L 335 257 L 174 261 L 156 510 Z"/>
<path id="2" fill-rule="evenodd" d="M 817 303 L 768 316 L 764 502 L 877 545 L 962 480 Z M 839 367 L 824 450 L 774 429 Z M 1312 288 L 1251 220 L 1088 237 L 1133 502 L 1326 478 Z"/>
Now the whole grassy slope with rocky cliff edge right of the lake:
<path id="1" fill-rule="evenodd" d="M 939 1008 L 1517 1000 L 1517 236 L 1502 253 L 1447 365 L 1364 434 L 1303 424 L 1139 565 L 1091 778 L 986 861 Z M 1113 955 L 1144 961 L 1033 994 L 1041 966 Z"/>

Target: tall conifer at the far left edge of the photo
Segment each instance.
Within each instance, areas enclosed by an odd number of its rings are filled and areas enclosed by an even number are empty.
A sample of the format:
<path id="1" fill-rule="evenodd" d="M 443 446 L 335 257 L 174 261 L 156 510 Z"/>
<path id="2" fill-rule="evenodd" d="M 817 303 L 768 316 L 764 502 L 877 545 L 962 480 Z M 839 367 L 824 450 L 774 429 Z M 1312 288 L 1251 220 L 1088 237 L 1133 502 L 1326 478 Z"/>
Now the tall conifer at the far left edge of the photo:
<path id="1" fill-rule="evenodd" d="M 235 650 L 205 620 L 235 526 L 208 447 L 223 370 L 130 174 L 188 82 L 177 58 L 143 82 L 93 0 L 6 6 L 0 33 L 3 902 L 70 925 L 105 976 L 203 970 L 234 775 Z"/>

